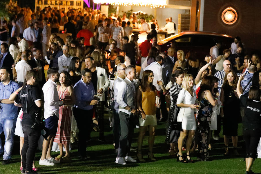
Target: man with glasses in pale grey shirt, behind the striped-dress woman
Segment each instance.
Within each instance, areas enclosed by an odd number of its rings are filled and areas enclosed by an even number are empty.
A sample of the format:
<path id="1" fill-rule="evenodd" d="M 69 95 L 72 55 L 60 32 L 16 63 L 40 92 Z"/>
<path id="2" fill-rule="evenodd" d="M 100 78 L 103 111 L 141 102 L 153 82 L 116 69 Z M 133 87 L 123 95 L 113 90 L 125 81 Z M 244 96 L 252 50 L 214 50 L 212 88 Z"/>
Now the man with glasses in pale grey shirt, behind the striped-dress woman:
<path id="1" fill-rule="evenodd" d="M 59 73 L 61 73 L 63 70 L 69 72 L 69 65 L 71 63 L 73 56 L 69 55 L 69 46 L 63 45 L 63 55 L 58 57 L 58 67 L 59 67 Z"/>

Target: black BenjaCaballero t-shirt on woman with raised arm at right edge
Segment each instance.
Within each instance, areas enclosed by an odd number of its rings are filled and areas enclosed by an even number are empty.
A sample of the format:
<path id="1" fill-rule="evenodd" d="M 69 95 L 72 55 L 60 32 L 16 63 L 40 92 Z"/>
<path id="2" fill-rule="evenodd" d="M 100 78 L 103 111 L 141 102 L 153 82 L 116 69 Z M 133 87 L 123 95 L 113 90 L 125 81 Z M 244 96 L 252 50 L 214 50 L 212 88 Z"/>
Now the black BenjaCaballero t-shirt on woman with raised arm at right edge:
<path id="1" fill-rule="evenodd" d="M 253 101 L 240 95 L 240 101 L 245 107 L 245 115 L 243 117 L 243 127 L 248 129 L 261 128 L 261 103 Z"/>

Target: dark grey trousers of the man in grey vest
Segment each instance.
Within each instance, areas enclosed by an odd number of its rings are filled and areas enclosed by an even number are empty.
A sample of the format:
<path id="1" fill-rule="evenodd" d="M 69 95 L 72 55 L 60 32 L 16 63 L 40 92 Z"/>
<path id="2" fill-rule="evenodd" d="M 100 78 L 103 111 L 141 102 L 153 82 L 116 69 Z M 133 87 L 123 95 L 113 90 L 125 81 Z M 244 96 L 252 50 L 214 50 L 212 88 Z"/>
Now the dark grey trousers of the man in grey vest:
<path id="1" fill-rule="evenodd" d="M 119 112 L 119 120 L 121 125 L 121 135 L 119 138 L 118 157 L 129 156 L 131 142 L 133 137 L 136 120 L 133 115 Z"/>

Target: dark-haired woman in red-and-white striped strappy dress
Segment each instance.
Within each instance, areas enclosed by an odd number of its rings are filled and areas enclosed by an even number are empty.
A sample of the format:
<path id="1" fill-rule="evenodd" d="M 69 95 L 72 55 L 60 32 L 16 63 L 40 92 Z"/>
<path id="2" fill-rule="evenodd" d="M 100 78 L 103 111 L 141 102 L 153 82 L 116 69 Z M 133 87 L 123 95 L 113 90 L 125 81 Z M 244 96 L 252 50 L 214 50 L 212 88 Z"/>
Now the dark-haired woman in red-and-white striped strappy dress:
<path id="1" fill-rule="evenodd" d="M 70 132 L 71 132 L 71 106 L 75 101 L 73 87 L 71 85 L 71 76 L 67 71 L 62 71 L 59 76 L 59 85 L 57 86 L 60 99 L 68 100 L 68 105 L 59 107 L 59 122 L 54 142 L 58 143 L 60 155 L 55 157 L 55 160 L 60 162 L 70 162 Z M 63 154 L 63 146 L 65 148 L 65 156 Z"/>

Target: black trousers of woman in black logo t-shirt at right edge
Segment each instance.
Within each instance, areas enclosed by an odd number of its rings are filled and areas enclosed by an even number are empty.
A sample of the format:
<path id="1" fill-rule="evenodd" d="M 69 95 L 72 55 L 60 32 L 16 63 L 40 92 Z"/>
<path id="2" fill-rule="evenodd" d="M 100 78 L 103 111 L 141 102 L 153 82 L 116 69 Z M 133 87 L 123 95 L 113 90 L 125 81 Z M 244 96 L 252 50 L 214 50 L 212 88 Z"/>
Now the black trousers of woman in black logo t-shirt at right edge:
<path id="1" fill-rule="evenodd" d="M 243 129 L 243 139 L 246 145 L 246 158 L 256 158 L 257 147 L 260 140 L 260 129 Z"/>

